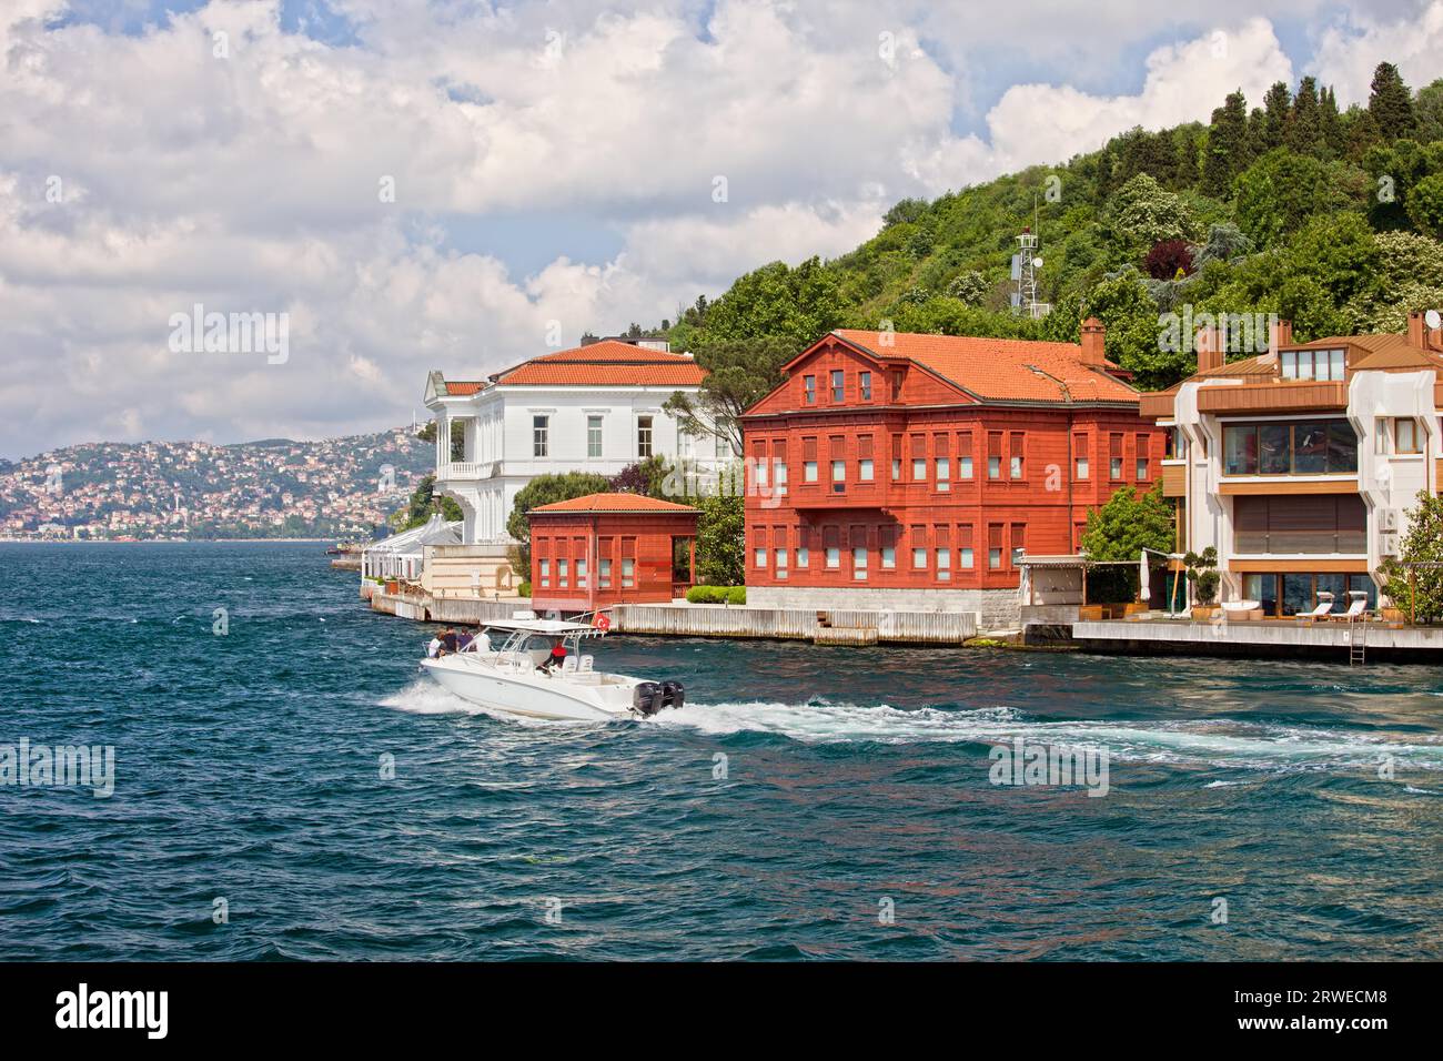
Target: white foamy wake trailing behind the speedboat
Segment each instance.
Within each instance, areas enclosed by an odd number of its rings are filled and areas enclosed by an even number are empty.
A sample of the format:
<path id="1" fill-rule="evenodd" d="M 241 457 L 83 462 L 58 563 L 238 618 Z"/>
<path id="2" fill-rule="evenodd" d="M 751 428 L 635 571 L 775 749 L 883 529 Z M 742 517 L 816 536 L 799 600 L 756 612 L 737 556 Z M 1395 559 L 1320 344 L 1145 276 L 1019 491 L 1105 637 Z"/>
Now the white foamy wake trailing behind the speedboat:
<path id="1" fill-rule="evenodd" d="M 646 725 L 704 733 L 775 733 L 804 743 L 1010 743 L 1105 751 L 1123 762 L 1199 764 L 1240 769 L 1397 769 L 1443 772 L 1443 735 L 1398 738 L 1237 719 L 1039 722 L 1009 707 L 899 710 L 887 704 L 811 702 L 687 704 Z"/>

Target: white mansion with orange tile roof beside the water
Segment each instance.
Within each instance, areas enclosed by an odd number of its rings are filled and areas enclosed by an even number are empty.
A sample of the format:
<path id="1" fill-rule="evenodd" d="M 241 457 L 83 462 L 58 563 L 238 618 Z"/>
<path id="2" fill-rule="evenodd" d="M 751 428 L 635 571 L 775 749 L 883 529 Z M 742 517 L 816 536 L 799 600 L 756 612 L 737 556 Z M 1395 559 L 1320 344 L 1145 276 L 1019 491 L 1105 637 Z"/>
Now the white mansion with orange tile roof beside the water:
<path id="1" fill-rule="evenodd" d="M 426 407 L 436 417 L 436 489 L 460 505 L 463 543 L 509 544 L 506 518 L 537 475 L 616 475 L 654 455 L 716 472 L 732 459 L 730 445 L 685 435 L 662 410 L 675 391 L 696 393 L 704 375 L 667 344 L 619 339 L 543 354 L 482 381 L 433 371 Z M 453 460 L 457 420 L 465 452 Z"/>

